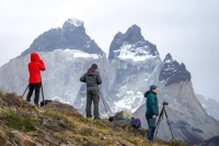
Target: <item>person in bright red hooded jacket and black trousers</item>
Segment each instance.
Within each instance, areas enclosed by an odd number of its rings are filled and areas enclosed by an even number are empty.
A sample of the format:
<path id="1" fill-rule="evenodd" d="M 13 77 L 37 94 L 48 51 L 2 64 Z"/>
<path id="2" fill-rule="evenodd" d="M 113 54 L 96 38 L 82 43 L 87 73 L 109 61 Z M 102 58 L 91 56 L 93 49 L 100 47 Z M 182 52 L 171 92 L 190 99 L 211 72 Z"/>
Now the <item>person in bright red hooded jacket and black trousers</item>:
<path id="1" fill-rule="evenodd" d="M 39 91 L 42 87 L 41 71 L 46 70 L 44 61 L 39 58 L 37 53 L 31 54 L 31 63 L 28 63 L 28 93 L 26 101 L 31 101 L 33 91 L 35 90 L 34 104 L 38 105 Z"/>

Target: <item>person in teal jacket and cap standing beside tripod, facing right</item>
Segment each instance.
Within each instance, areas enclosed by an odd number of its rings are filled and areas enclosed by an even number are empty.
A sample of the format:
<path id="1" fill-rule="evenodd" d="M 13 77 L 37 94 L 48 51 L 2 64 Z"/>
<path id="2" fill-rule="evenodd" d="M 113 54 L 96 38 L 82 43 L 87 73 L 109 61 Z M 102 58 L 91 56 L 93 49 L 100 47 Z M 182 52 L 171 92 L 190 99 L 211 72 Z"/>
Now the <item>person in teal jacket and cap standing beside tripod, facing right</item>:
<path id="1" fill-rule="evenodd" d="M 145 92 L 146 101 L 146 119 L 148 121 L 148 141 L 153 142 L 153 135 L 155 131 L 155 121 L 159 115 L 159 106 L 158 106 L 158 88 L 157 86 L 150 86 L 150 89 Z"/>

